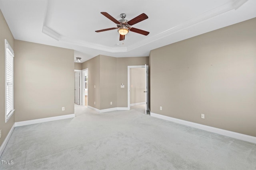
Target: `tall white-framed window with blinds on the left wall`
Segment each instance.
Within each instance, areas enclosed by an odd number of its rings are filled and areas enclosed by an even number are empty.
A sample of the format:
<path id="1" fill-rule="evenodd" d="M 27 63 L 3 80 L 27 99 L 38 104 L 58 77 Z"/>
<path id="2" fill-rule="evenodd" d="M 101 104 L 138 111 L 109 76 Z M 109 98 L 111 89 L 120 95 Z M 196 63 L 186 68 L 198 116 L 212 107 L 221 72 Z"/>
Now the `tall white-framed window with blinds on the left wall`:
<path id="1" fill-rule="evenodd" d="M 13 68 L 14 52 L 12 47 L 5 39 L 5 122 L 14 113 L 14 68 Z"/>

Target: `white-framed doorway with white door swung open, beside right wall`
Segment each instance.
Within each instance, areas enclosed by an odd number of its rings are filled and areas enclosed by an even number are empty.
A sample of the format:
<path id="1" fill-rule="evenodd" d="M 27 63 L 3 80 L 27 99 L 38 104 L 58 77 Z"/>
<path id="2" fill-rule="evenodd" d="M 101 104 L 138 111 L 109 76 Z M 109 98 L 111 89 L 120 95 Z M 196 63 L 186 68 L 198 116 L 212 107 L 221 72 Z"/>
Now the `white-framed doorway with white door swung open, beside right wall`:
<path id="1" fill-rule="evenodd" d="M 128 109 L 144 104 L 145 114 L 149 110 L 148 66 L 128 66 Z"/>

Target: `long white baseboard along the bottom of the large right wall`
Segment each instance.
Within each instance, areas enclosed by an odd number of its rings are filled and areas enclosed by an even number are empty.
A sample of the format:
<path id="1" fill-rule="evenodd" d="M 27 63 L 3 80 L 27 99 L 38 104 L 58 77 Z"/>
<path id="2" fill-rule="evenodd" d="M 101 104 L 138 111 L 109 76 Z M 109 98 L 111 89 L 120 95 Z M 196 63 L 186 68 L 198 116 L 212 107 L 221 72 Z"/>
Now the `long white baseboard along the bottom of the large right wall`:
<path id="1" fill-rule="evenodd" d="M 240 140 L 243 140 L 243 141 L 256 143 L 256 137 L 253 137 L 253 136 L 250 136 L 250 135 L 244 135 L 244 134 L 241 134 L 241 133 L 227 131 L 227 130 L 224 130 L 224 129 L 218 129 L 216 127 L 201 125 L 201 124 L 198 124 L 198 123 L 193 123 L 193 122 L 190 122 L 190 121 L 176 119 L 176 118 L 173 118 L 173 117 L 168 117 L 168 116 L 165 116 L 165 115 L 160 115 L 160 114 L 156 114 L 156 113 L 152 113 L 152 112 L 150 113 L 150 116 L 157 117 L 157 118 L 164 119 L 164 120 L 168 120 L 168 121 L 172 121 L 172 122 L 179 123 L 179 124 L 182 124 L 182 125 L 187 125 L 187 126 L 190 126 L 190 127 L 195 127 L 197 129 L 202 129 L 204 131 L 218 133 L 220 135 L 225 135 L 225 136 L 232 137 L 232 138 L 235 138 L 235 139 L 240 139 Z"/>

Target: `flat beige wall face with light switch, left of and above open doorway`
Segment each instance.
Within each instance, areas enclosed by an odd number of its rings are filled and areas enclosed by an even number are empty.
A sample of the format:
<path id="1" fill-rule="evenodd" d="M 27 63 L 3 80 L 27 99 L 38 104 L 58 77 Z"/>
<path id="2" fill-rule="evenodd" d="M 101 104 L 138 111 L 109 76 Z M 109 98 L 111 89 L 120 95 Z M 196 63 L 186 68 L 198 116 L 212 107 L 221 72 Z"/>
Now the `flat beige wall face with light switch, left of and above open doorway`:
<path id="1" fill-rule="evenodd" d="M 117 106 L 128 107 L 128 66 L 148 65 L 148 57 L 120 57 L 117 58 Z M 120 85 L 124 83 L 124 88 Z"/>

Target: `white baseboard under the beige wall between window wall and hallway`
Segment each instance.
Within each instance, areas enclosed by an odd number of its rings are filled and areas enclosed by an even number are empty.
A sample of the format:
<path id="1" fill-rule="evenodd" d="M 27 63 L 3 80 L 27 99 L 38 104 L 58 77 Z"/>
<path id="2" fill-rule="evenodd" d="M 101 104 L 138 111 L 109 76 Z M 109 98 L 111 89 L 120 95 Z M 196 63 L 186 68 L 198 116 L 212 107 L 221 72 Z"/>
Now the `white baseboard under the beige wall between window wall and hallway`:
<path id="1" fill-rule="evenodd" d="M 75 114 L 46 117 L 46 118 L 42 118 L 42 119 L 34 119 L 34 120 L 27 120 L 27 121 L 18 121 L 18 122 L 15 122 L 15 127 L 31 125 L 31 124 L 35 124 L 35 123 L 42 123 L 42 122 L 47 122 L 47 121 L 68 119 L 68 118 L 72 118 L 72 117 L 75 117 Z"/>

